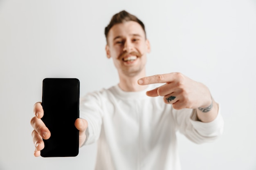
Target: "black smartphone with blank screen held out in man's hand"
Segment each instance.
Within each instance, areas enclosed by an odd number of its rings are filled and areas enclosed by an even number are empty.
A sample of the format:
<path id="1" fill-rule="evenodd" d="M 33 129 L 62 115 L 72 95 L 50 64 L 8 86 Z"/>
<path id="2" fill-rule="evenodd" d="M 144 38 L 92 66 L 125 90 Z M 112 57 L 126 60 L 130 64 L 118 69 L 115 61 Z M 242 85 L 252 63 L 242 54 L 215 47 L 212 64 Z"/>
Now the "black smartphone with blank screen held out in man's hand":
<path id="1" fill-rule="evenodd" d="M 74 123 L 79 118 L 80 82 L 76 78 L 43 79 L 41 118 L 51 132 L 43 139 L 42 157 L 75 157 L 79 153 L 79 130 Z"/>

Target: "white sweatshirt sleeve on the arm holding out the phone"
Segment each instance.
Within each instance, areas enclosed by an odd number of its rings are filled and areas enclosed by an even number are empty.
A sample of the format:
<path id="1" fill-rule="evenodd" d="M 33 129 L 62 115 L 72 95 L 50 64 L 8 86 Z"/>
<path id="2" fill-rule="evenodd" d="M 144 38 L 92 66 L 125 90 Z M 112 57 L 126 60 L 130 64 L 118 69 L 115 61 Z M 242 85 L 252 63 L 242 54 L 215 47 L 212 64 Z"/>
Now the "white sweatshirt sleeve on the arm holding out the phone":
<path id="1" fill-rule="evenodd" d="M 103 111 L 99 94 L 89 93 L 80 98 L 80 118 L 85 119 L 88 122 L 84 144 L 92 144 L 99 139 L 102 115 Z"/>

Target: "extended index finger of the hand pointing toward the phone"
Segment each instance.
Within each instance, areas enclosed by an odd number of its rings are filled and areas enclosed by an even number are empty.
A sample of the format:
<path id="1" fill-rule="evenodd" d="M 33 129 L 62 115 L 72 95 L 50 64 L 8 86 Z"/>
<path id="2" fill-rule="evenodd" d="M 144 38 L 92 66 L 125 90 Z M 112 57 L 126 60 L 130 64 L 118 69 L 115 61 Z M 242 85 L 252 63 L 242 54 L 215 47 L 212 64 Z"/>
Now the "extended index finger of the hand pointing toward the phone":
<path id="1" fill-rule="evenodd" d="M 138 80 L 138 84 L 148 85 L 148 84 L 156 84 L 156 83 L 171 83 L 173 80 L 174 80 L 173 73 L 158 74 L 158 75 L 143 77 Z"/>

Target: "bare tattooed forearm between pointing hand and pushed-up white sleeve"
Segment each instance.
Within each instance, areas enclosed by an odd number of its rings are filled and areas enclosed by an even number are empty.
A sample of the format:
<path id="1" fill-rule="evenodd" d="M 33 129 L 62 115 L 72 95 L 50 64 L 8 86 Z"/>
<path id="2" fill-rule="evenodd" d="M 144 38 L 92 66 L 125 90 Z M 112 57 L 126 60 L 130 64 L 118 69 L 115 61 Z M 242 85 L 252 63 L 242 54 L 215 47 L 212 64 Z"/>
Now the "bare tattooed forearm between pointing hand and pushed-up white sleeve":
<path id="1" fill-rule="evenodd" d="M 197 108 L 197 117 L 202 122 L 211 122 L 216 119 L 218 115 L 219 106 L 218 104 L 212 99 L 212 106 L 209 108 Z"/>

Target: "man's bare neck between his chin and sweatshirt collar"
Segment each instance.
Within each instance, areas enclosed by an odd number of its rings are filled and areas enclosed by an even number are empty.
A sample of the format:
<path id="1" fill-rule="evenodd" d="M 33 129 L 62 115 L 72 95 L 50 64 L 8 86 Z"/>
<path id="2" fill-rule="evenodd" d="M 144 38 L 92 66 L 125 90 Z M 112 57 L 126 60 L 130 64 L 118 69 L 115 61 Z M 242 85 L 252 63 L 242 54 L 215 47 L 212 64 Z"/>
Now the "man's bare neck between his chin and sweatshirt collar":
<path id="1" fill-rule="evenodd" d="M 123 91 L 142 91 L 144 90 L 147 86 L 141 86 L 138 84 L 138 79 L 145 77 L 146 72 L 141 71 L 139 74 L 135 76 L 127 76 L 127 75 L 120 75 L 119 73 L 119 87 Z"/>

